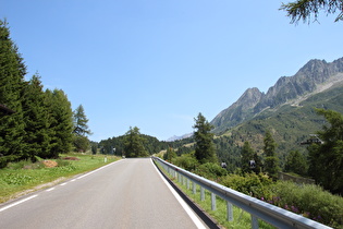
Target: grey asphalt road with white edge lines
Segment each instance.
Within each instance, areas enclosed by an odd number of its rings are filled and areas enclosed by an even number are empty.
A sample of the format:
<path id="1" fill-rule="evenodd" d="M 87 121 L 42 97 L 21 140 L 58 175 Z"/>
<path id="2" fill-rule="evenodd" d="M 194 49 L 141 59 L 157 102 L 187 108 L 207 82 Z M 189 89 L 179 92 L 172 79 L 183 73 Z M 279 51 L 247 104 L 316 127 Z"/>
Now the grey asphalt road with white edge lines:
<path id="1" fill-rule="evenodd" d="M 189 215 L 151 159 L 123 159 L 1 205 L 0 228 L 203 227 Z"/>

